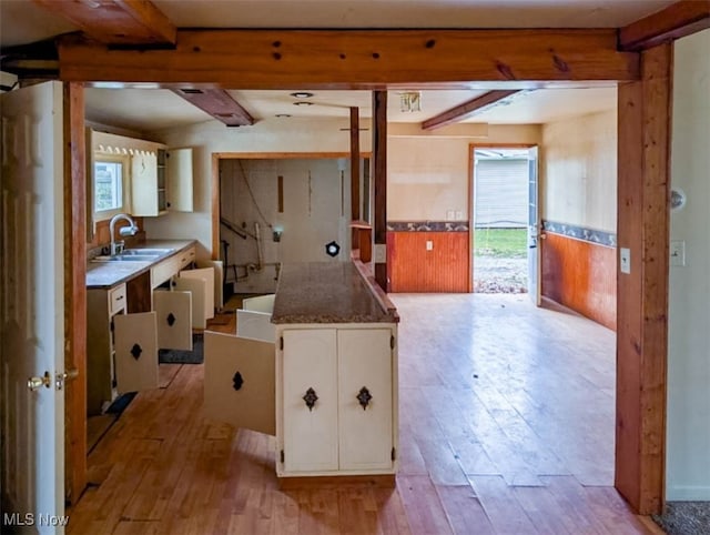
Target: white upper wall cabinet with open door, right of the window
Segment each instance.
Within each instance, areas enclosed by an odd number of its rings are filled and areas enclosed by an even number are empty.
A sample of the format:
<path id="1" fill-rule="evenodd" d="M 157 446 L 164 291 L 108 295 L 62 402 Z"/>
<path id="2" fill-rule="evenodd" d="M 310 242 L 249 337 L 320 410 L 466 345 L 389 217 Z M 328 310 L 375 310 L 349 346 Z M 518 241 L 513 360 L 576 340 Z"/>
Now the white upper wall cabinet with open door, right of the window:
<path id="1" fill-rule="evenodd" d="M 192 149 L 136 151 L 131 171 L 133 215 L 192 212 Z"/>

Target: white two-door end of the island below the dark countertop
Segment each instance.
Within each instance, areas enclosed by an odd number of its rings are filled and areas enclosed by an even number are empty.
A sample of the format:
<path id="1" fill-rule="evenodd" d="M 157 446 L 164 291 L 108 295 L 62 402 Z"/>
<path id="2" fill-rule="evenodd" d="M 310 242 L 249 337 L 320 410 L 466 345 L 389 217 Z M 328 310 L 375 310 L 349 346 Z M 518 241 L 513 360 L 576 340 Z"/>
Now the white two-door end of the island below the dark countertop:
<path id="1" fill-rule="evenodd" d="M 324 326 L 277 332 L 277 474 L 393 474 L 396 326 Z"/>

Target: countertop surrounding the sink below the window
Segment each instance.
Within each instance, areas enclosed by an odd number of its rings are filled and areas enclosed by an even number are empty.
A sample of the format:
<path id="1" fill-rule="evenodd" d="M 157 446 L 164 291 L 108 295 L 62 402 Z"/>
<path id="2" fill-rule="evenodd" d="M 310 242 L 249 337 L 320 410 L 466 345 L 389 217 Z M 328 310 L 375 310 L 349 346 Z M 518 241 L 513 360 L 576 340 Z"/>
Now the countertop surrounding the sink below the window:
<path id="1" fill-rule="evenodd" d="M 87 287 L 108 290 L 116 284 L 121 284 L 136 275 L 140 275 L 141 273 L 150 270 L 156 263 L 181 253 L 195 243 L 197 243 L 195 240 L 146 240 L 145 243 L 135 245 L 132 249 L 170 249 L 170 252 L 151 262 L 89 261 L 87 263 Z"/>

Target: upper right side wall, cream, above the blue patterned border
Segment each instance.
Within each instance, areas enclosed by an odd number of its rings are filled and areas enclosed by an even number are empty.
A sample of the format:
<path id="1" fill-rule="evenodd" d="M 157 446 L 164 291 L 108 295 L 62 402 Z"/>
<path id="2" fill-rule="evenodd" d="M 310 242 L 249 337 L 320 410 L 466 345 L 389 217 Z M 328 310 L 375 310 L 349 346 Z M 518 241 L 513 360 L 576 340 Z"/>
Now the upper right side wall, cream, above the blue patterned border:
<path id="1" fill-rule="evenodd" d="M 542 219 L 617 231 L 617 111 L 542 127 Z"/>

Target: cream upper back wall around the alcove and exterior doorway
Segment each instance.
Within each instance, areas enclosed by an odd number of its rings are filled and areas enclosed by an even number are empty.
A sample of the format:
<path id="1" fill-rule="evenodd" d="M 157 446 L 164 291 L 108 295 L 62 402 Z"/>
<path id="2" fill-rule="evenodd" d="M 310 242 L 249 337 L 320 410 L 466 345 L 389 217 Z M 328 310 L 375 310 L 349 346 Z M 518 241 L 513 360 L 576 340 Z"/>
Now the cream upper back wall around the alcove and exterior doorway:
<path id="1" fill-rule="evenodd" d="M 369 121 L 361 121 L 368 128 Z M 447 130 L 455 137 L 437 137 L 413 125 L 392 124 L 387 164 L 387 219 L 446 220 L 447 210 L 468 219 L 470 143 L 539 143 L 539 125 L 460 124 Z M 211 254 L 211 182 L 214 152 L 349 152 L 347 119 L 271 118 L 253 127 L 225 128 L 209 121 L 187 128 L 153 132 L 152 137 L 179 149 L 192 147 L 194 212 L 145 218 L 150 238 L 199 240 L 199 256 Z M 443 129 L 444 130 L 444 129 Z M 435 132 L 436 133 L 436 132 Z M 371 131 L 361 132 L 361 150 L 371 150 Z"/>

